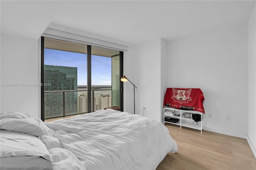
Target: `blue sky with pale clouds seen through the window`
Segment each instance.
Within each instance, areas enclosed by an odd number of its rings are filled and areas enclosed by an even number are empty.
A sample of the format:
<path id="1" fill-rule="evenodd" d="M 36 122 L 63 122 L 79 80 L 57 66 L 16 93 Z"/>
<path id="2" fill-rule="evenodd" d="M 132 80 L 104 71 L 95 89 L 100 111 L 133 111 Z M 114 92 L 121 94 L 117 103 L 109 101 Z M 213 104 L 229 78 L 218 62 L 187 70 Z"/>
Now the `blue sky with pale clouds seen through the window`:
<path id="1" fill-rule="evenodd" d="M 77 85 L 87 85 L 87 54 L 44 49 L 44 64 L 77 67 Z M 111 85 L 111 58 L 92 55 L 92 85 Z"/>

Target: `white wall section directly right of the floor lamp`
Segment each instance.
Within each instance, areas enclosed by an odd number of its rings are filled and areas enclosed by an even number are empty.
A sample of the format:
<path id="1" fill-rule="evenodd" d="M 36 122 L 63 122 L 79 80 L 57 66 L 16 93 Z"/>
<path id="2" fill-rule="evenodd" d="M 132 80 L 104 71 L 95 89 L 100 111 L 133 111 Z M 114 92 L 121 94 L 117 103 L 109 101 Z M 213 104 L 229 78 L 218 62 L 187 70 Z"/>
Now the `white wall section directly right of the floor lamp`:
<path id="1" fill-rule="evenodd" d="M 161 121 L 161 39 L 134 46 L 136 114 Z"/>

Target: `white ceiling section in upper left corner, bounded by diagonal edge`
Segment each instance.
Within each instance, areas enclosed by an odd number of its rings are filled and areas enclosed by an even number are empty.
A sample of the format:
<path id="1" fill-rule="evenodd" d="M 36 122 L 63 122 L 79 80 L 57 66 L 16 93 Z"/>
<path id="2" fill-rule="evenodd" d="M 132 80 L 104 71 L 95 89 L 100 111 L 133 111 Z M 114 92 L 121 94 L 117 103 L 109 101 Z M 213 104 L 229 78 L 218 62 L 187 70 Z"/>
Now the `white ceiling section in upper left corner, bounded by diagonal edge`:
<path id="1" fill-rule="evenodd" d="M 64 2 L 1 0 L 1 34 L 39 39 Z"/>

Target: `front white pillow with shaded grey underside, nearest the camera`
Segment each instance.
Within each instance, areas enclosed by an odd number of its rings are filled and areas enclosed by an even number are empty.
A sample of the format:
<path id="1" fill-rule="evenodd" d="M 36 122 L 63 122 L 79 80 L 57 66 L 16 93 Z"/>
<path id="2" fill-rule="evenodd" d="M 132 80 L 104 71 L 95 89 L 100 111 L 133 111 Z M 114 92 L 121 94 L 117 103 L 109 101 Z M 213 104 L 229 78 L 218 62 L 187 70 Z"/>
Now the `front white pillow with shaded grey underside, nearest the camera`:
<path id="1" fill-rule="evenodd" d="M 21 132 L 0 130 L 0 141 L 1 169 L 52 169 L 52 156 L 38 137 Z M 39 159 L 40 157 L 45 160 Z M 8 162 L 11 163 L 8 164 Z"/>

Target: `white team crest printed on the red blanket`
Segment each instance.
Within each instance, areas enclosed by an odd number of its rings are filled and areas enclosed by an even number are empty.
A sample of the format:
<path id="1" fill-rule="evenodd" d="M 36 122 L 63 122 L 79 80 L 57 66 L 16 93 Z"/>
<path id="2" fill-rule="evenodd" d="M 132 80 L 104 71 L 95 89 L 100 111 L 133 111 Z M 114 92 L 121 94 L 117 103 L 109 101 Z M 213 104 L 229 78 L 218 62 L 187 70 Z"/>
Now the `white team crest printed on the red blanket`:
<path id="1" fill-rule="evenodd" d="M 188 101 L 191 101 L 190 93 L 191 88 L 172 88 L 172 99 L 174 102 L 182 103 L 188 103 Z"/>

